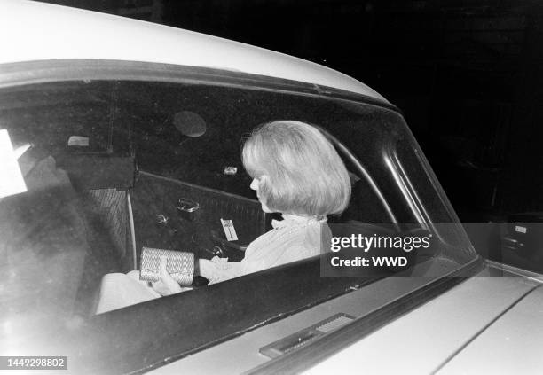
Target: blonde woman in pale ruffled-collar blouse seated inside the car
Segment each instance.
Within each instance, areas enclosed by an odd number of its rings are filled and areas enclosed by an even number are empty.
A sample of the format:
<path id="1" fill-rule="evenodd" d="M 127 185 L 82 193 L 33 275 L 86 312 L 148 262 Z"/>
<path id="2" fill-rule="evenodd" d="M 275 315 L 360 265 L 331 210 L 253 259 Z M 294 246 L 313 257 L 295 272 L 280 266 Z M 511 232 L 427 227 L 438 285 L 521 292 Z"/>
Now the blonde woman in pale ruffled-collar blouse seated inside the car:
<path id="1" fill-rule="evenodd" d="M 342 213 L 350 200 L 350 177 L 340 156 L 319 129 L 304 122 L 258 127 L 242 159 L 264 212 L 281 213 L 283 220 L 272 221 L 273 229 L 249 244 L 241 262 L 199 260 L 200 275 L 212 283 L 318 255 L 321 240 L 331 236 L 327 215 Z M 183 291 L 166 271 L 165 260 L 153 288 L 139 282 L 137 274 L 106 275 L 98 312 Z"/>

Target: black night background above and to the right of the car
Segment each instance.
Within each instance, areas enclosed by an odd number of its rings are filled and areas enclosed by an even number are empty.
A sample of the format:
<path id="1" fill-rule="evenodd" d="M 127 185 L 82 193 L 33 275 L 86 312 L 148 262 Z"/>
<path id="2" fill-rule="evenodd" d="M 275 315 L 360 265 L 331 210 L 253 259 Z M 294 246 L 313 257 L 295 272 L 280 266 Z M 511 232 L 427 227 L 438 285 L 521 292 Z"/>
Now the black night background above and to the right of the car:
<path id="1" fill-rule="evenodd" d="M 543 211 L 543 3 L 57 0 L 350 74 L 405 113 L 463 222 Z"/>

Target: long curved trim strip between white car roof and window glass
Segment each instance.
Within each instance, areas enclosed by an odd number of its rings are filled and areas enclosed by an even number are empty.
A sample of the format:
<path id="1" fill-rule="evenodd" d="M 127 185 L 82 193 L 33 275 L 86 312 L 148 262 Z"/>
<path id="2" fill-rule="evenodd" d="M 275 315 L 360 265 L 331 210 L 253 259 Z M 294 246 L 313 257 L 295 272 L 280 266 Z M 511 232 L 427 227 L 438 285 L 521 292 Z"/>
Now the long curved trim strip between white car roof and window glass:
<path id="1" fill-rule="evenodd" d="M 379 98 L 314 83 L 201 66 L 105 59 L 35 60 L 0 64 L 0 89 L 44 82 L 126 80 L 207 84 L 231 88 L 296 93 L 366 103 L 403 113 Z"/>

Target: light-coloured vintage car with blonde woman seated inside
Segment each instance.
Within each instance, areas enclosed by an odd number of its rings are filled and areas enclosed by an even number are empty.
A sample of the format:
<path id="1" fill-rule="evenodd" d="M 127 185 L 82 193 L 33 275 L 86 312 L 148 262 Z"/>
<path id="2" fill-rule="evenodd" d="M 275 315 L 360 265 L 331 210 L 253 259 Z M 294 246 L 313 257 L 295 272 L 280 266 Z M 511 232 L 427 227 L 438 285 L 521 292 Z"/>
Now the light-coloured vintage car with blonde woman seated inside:
<path id="1" fill-rule="evenodd" d="M 0 0 L 0 34 L 0 355 L 66 356 L 62 373 L 543 371 L 540 275 L 476 254 L 402 113 L 363 83 L 51 4 Z M 335 234 L 422 233 L 431 251 L 337 275 L 323 252 L 95 315 L 102 277 L 144 247 L 240 261 L 271 230 L 240 147 L 274 120 L 318 126 L 348 168 Z"/>

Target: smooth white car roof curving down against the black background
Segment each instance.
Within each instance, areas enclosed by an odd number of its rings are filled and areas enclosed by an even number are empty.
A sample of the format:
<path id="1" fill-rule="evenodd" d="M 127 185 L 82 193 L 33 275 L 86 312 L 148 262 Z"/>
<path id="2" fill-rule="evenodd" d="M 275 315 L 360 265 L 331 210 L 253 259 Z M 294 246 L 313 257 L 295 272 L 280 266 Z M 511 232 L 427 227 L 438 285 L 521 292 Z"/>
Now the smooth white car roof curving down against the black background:
<path id="1" fill-rule="evenodd" d="M 104 59 L 201 66 L 347 90 L 388 103 L 326 66 L 175 27 L 22 0 L 0 0 L 0 64 Z"/>

